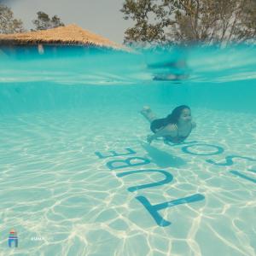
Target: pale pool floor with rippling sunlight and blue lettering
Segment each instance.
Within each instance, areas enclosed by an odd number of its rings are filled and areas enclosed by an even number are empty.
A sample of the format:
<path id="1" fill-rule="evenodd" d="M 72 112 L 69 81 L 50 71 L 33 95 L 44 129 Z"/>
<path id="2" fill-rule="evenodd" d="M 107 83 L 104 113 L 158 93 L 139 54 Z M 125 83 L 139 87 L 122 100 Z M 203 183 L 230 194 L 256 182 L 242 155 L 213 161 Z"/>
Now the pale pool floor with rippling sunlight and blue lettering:
<path id="1" fill-rule="evenodd" d="M 197 128 L 187 143 L 151 146 L 148 123 L 130 109 L 5 116 L 2 253 L 254 255 L 255 115 L 193 114 Z M 131 189 L 152 183 L 159 184 Z M 192 195 L 204 199 L 160 208 L 166 226 L 137 200 L 157 206 Z M 10 249 L 12 228 L 19 247 Z"/>

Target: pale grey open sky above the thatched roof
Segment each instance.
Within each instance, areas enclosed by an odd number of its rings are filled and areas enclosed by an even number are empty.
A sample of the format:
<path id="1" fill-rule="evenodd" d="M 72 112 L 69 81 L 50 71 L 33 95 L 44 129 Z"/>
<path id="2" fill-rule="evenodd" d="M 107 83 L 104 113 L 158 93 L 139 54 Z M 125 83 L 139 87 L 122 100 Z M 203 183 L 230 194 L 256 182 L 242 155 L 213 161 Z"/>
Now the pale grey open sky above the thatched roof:
<path id="1" fill-rule="evenodd" d="M 76 24 L 116 43 L 123 43 L 125 30 L 132 26 L 119 11 L 125 0 L 0 0 L 9 6 L 15 18 L 21 19 L 27 30 L 32 20 L 43 11 L 50 17 L 58 15 L 65 25 Z"/>

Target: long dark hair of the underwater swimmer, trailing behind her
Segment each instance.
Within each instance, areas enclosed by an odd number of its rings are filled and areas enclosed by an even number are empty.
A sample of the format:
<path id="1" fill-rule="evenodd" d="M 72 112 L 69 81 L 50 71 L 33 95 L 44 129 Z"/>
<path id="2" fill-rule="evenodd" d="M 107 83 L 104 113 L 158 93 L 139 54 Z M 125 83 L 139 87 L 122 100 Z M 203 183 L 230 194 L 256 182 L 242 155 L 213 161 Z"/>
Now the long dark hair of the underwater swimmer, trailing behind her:
<path id="1" fill-rule="evenodd" d="M 172 113 L 167 115 L 165 119 L 155 119 L 151 125 L 150 129 L 153 132 L 160 129 L 161 127 L 165 127 L 166 125 L 174 124 L 177 125 L 177 121 L 181 116 L 183 109 L 190 109 L 189 106 L 181 105 L 172 110 Z"/>

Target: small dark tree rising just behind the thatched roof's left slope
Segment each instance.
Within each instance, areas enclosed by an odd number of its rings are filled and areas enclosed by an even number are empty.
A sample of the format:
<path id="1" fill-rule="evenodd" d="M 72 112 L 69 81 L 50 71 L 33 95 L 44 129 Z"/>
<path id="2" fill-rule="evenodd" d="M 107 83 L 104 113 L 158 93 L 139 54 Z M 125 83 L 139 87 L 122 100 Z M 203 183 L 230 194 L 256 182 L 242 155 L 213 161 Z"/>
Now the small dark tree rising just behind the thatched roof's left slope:
<path id="1" fill-rule="evenodd" d="M 39 11 L 37 15 L 38 18 L 32 20 L 32 23 L 36 26 L 35 31 L 64 26 L 64 23 L 61 22 L 61 19 L 57 15 L 50 18 L 49 15 L 41 11 Z"/>

